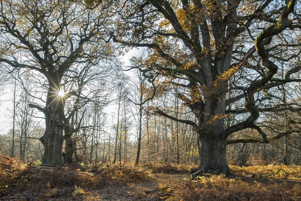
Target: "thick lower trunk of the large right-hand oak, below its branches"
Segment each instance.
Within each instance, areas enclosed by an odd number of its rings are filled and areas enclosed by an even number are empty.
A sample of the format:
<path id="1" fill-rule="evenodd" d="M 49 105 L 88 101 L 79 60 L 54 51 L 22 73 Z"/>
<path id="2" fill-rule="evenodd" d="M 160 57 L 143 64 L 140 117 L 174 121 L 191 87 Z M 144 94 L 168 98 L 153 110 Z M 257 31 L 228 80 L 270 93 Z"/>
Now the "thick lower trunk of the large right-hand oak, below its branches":
<path id="1" fill-rule="evenodd" d="M 225 94 L 221 94 L 224 99 Z M 203 174 L 229 175 L 227 166 L 226 149 L 227 138 L 224 135 L 225 103 L 218 98 L 212 98 L 204 104 L 204 119 L 198 135 L 200 141 L 200 165 L 192 171 L 192 177 Z"/>

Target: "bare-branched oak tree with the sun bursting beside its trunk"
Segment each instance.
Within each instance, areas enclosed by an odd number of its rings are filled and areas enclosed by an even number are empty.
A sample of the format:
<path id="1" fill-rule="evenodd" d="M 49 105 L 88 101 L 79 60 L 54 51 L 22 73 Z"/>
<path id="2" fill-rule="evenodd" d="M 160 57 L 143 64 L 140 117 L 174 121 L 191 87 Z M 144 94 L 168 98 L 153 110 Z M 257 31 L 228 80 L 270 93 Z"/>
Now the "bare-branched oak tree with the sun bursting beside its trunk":
<path id="1" fill-rule="evenodd" d="M 45 116 L 42 161 L 62 164 L 64 107 L 62 80 L 75 64 L 94 63 L 111 53 L 103 32 L 109 2 L 90 10 L 81 1 L 1 1 L 0 32 L 7 50 L 0 62 L 14 69 L 35 70 L 45 78 L 45 106 L 31 104 Z M 21 53 L 21 58 L 17 57 Z M 67 91 L 68 92 L 68 91 Z"/>

